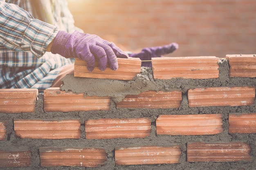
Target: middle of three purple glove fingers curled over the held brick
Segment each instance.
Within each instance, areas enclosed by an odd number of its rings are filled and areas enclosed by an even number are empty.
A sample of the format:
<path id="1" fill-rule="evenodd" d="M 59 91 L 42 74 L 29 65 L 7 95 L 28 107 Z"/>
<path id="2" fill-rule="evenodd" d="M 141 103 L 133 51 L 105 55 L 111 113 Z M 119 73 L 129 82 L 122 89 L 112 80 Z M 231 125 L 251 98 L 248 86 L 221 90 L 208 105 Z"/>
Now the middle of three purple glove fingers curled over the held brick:
<path id="1" fill-rule="evenodd" d="M 101 71 L 105 71 L 108 64 L 106 51 L 101 46 L 97 46 L 97 45 L 91 46 L 90 51 L 95 56 L 95 59 L 99 64 L 99 69 Z"/>

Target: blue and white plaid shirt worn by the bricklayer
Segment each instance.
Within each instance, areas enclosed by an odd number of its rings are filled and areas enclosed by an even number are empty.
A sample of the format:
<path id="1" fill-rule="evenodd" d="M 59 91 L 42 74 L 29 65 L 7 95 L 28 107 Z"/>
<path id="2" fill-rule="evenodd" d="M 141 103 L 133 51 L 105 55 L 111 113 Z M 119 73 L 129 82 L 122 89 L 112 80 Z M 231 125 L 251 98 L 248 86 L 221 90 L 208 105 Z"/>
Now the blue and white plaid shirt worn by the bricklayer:
<path id="1" fill-rule="evenodd" d="M 0 88 L 49 88 L 74 60 L 46 48 L 58 30 L 76 29 L 65 0 L 0 0 Z"/>

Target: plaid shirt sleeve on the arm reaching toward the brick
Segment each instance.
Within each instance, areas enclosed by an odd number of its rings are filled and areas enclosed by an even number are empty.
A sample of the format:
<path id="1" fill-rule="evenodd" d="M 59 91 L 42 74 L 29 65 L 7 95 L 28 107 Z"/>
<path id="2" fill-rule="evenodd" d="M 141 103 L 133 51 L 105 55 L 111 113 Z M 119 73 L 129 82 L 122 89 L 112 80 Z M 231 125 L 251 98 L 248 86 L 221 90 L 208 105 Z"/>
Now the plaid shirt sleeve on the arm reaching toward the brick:
<path id="1" fill-rule="evenodd" d="M 58 31 L 17 5 L 0 1 L 0 52 L 25 51 L 42 57 Z"/>

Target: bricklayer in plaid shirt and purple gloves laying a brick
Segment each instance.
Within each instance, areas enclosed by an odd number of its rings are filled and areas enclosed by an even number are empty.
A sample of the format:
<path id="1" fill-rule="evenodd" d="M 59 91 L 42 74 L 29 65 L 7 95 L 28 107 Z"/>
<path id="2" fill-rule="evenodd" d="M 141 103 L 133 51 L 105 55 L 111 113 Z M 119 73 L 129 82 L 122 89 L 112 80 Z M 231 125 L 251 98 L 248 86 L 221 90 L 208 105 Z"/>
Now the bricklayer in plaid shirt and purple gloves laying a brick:
<path id="1" fill-rule="evenodd" d="M 59 87 L 63 76 L 74 72 L 76 57 L 86 61 L 89 71 L 95 61 L 101 71 L 107 64 L 117 70 L 117 57 L 151 60 L 177 48 L 172 43 L 126 53 L 74 26 L 65 0 L 0 0 L 0 88 L 43 92 Z M 142 62 L 142 66 L 151 66 L 151 62 Z"/>

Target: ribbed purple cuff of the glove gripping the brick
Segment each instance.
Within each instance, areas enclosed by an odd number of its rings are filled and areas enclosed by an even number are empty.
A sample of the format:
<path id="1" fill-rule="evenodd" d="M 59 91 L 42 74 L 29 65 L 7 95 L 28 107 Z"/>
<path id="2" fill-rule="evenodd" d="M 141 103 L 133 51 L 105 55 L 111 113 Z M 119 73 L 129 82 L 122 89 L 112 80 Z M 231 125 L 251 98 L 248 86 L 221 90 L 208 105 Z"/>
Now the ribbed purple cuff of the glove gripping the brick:
<path id="1" fill-rule="evenodd" d="M 69 58 L 68 55 L 65 56 L 65 45 L 70 39 L 70 35 L 70 33 L 66 33 L 65 31 L 58 31 L 56 37 L 54 38 L 51 52 L 53 54 L 59 54 L 63 57 Z"/>

